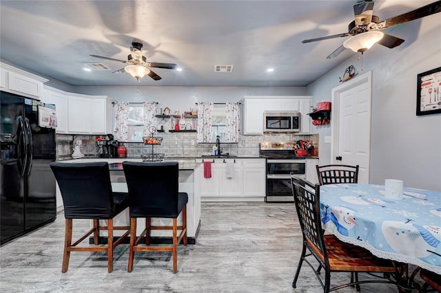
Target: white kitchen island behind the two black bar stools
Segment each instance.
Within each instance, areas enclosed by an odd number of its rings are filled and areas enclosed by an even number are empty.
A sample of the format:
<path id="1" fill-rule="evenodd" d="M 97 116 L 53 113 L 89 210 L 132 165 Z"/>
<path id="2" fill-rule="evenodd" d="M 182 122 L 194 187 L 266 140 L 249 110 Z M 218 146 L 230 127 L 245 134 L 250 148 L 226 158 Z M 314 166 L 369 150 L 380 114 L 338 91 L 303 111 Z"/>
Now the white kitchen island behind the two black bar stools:
<path id="1" fill-rule="evenodd" d="M 141 158 L 82 158 L 76 160 L 66 160 L 62 162 L 67 163 L 83 163 L 83 162 L 108 162 L 110 164 L 110 177 L 112 180 L 113 191 L 127 192 L 127 184 L 125 183 L 125 176 L 122 170 L 122 162 L 142 162 Z M 167 160 L 172 161 L 172 160 Z M 175 160 L 179 163 L 179 191 L 188 194 L 187 203 L 187 237 L 188 243 L 196 243 L 198 235 L 198 227 L 201 219 L 201 195 L 199 191 L 201 178 L 201 164 L 196 163 L 195 160 Z M 61 202 L 59 202 L 61 201 Z M 57 188 L 57 206 L 62 207 L 62 198 Z M 129 209 L 123 211 L 120 215 L 114 218 L 115 226 L 130 226 Z M 92 223 L 92 222 L 91 222 Z M 182 223 L 181 215 L 178 218 L 178 224 Z M 103 224 L 104 221 L 103 221 Z M 152 224 L 171 225 L 172 219 L 152 219 Z M 92 224 L 91 224 L 92 225 Z M 145 228 L 144 219 L 138 219 L 136 235 L 141 234 Z M 101 232 L 105 235 L 105 231 Z M 121 230 L 114 230 L 115 236 L 123 234 Z M 172 237 L 171 230 L 152 230 L 152 237 L 156 239 L 163 239 Z M 154 241 L 154 240 L 152 240 Z"/>

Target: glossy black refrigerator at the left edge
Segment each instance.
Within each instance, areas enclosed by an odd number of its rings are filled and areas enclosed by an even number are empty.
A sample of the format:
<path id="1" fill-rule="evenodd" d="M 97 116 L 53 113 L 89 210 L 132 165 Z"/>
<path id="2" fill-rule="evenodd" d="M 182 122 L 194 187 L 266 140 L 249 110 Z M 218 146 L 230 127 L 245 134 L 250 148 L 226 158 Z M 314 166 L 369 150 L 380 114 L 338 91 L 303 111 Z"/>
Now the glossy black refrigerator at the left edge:
<path id="1" fill-rule="evenodd" d="M 0 245 L 57 213 L 55 129 L 39 125 L 39 101 L 0 91 Z"/>

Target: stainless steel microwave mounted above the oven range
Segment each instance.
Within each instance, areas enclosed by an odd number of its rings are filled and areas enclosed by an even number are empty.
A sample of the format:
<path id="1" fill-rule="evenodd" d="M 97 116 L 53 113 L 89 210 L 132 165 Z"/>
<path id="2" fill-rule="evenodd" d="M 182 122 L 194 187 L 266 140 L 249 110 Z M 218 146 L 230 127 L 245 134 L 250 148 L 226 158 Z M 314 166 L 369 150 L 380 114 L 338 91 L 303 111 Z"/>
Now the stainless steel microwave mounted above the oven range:
<path id="1" fill-rule="evenodd" d="M 300 132 L 300 112 L 263 112 L 264 132 Z"/>

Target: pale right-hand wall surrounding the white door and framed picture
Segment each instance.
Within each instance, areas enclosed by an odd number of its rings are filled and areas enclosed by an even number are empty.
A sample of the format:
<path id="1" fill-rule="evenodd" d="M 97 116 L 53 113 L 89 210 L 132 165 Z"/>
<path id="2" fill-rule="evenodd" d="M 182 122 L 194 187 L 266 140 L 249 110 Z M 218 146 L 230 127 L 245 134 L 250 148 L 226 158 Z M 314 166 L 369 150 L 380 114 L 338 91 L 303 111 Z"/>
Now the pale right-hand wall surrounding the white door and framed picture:
<path id="1" fill-rule="evenodd" d="M 373 72 L 370 182 L 404 180 L 404 186 L 441 191 L 441 114 L 416 116 L 417 74 L 441 66 L 440 14 L 387 31 L 404 39 L 399 47 L 374 45 L 363 56 L 363 72 Z M 313 105 L 331 100 L 345 68 L 360 71 L 357 54 L 307 87 Z M 326 62 L 326 56 L 322 56 Z M 331 162 L 330 126 L 312 127 L 320 134 L 320 164 Z"/>

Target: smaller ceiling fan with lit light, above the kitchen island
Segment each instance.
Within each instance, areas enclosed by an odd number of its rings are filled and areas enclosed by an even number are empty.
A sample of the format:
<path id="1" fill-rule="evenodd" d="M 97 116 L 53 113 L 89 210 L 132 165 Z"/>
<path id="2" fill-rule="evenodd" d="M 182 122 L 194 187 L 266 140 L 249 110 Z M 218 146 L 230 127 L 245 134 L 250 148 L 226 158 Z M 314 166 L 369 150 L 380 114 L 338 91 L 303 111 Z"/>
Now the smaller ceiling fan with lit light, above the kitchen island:
<path id="1" fill-rule="evenodd" d="M 110 61 L 127 63 L 127 66 L 118 69 L 113 73 L 119 74 L 119 73 L 129 72 L 138 81 L 145 75 L 150 76 L 154 80 L 162 79 L 161 76 L 158 76 L 158 74 L 156 74 L 155 72 L 152 71 L 152 69 L 150 69 L 151 67 L 161 68 L 161 69 L 176 69 L 178 67 L 178 65 L 176 65 L 175 63 L 147 62 L 147 59 L 145 58 L 145 56 L 143 56 L 143 53 L 141 51 L 142 47 L 143 47 L 142 43 L 136 41 L 132 42 L 132 46 L 130 47 L 130 51 L 132 51 L 132 53 L 127 56 L 127 61 L 105 57 L 105 56 L 99 56 L 99 55 L 89 55 L 89 56 L 106 59 Z"/>

